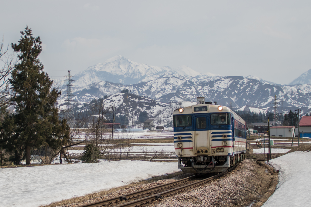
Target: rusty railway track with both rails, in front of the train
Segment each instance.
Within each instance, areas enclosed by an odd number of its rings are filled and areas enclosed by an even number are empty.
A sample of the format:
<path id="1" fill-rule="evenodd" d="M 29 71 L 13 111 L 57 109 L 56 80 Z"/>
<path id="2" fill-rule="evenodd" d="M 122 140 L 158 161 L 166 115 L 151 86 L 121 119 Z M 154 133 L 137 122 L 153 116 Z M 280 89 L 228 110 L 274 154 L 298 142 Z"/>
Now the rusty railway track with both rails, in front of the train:
<path id="1" fill-rule="evenodd" d="M 135 191 L 132 193 L 121 195 L 121 196 L 116 196 L 113 198 L 96 201 L 94 203 L 80 205 L 78 207 L 101 207 L 101 206 L 109 206 L 109 207 L 110 206 L 114 206 L 114 207 L 136 206 L 137 207 L 137 206 L 142 206 L 142 205 L 148 205 L 149 203 L 159 200 L 165 196 L 167 197 L 169 195 L 176 194 L 177 192 L 181 192 L 186 189 L 202 185 L 211 179 L 217 178 L 227 173 L 228 171 L 233 170 L 235 167 L 236 165 L 226 170 L 223 173 L 220 173 L 220 174 L 217 174 L 217 175 L 214 175 L 214 176 L 211 176 L 209 178 L 205 178 L 199 181 L 192 181 L 192 179 L 198 178 L 196 175 L 194 175 L 188 178 L 183 178 L 181 180 L 165 183 L 165 184 L 158 185 L 155 187 L 146 188 L 140 191 Z M 172 188 L 172 189 L 167 190 L 168 188 Z M 158 192 L 158 191 L 161 191 L 161 192 Z"/>

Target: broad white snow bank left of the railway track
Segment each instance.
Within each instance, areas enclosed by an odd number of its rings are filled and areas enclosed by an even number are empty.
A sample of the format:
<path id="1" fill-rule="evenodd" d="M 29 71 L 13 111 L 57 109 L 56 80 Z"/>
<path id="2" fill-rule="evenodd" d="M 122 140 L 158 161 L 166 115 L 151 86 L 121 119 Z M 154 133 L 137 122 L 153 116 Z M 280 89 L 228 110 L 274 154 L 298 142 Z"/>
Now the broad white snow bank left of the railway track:
<path id="1" fill-rule="evenodd" d="M 48 205 L 177 171 L 175 162 L 137 160 L 0 169 L 0 206 Z"/>

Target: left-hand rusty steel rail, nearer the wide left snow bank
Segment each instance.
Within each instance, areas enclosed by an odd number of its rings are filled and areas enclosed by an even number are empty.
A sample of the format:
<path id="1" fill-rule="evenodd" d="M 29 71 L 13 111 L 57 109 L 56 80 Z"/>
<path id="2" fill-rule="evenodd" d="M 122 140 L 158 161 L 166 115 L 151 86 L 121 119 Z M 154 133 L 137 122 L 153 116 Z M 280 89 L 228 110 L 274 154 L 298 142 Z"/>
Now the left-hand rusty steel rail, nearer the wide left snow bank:
<path id="1" fill-rule="evenodd" d="M 96 207 L 96 206 L 105 206 L 105 205 L 109 205 L 109 204 L 113 204 L 113 203 L 118 203 L 119 201 L 127 200 L 128 198 L 132 198 L 132 197 L 139 196 L 139 195 L 144 195 L 145 193 L 149 193 L 151 191 L 156 191 L 156 190 L 161 189 L 161 188 L 169 187 L 169 186 L 172 186 L 172 185 L 175 185 L 175 184 L 178 184 L 178 183 L 181 183 L 181 182 L 184 182 L 186 180 L 196 178 L 196 177 L 197 177 L 196 175 L 193 175 L 193 176 L 190 176 L 188 178 L 183 178 L 183 179 L 176 180 L 173 182 L 161 184 L 158 186 L 142 189 L 140 191 L 135 191 L 132 193 L 124 194 L 121 196 L 116 196 L 113 198 L 108 198 L 105 200 L 96 201 L 96 202 L 85 204 L 85 205 L 79 205 L 77 207 Z"/>

